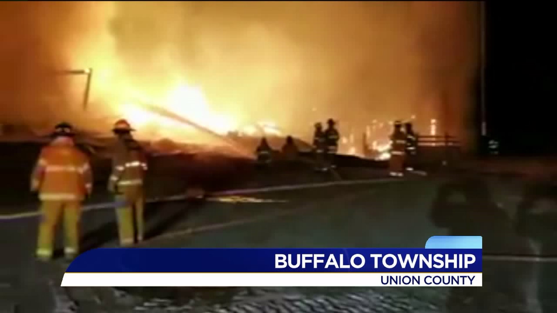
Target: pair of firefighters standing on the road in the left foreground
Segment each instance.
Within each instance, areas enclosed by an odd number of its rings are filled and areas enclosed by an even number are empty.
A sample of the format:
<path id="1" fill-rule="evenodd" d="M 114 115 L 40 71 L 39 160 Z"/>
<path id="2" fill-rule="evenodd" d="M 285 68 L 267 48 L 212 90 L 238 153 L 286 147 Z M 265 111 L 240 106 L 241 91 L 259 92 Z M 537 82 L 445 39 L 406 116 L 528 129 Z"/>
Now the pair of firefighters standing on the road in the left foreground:
<path id="1" fill-rule="evenodd" d="M 116 220 L 121 246 L 143 240 L 144 173 L 147 162 L 144 151 L 134 140 L 133 129 L 126 120 L 114 124 L 116 144 L 108 190 L 114 194 Z M 41 221 L 36 256 L 51 260 L 58 222 L 63 217 L 65 248 L 68 260 L 79 251 L 81 202 L 92 193 L 92 171 L 89 158 L 77 148 L 72 125 L 60 123 L 51 142 L 41 149 L 31 174 L 31 190 L 41 200 Z"/>

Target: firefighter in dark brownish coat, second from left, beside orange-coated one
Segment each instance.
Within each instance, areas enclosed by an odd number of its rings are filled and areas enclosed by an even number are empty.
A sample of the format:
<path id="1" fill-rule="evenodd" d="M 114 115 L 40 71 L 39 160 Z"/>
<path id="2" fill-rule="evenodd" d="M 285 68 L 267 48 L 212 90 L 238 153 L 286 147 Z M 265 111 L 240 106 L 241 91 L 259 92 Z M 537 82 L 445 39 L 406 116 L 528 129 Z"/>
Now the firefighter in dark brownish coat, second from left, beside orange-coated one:
<path id="1" fill-rule="evenodd" d="M 145 232 L 143 185 L 147 162 L 143 149 L 131 131 L 134 129 L 126 120 L 118 120 L 114 124 L 113 133 L 117 143 L 108 183 L 108 189 L 114 194 L 116 202 L 121 203 L 116 207 L 121 246 L 143 241 Z"/>

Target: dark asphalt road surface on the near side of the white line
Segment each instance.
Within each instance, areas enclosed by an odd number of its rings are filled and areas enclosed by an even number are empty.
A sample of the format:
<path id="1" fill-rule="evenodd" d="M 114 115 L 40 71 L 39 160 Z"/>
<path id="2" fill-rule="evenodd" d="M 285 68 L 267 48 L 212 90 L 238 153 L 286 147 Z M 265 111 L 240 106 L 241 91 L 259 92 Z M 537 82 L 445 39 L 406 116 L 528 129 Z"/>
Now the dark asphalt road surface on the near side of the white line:
<path id="1" fill-rule="evenodd" d="M 434 235 L 479 234 L 485 254 L 502 259 L 484 261 L 480 288 L 61 290 L 48 283 L 60 285 L 62 263 L 30 258 L 37 221 L 18 219 L 0 227 L 9 256 L 0 258 L 0 301 L 17 304 L 19 312 L 63 309 L 69 299 L 80 312 L 557 312 L 557 264 L 509 261 L 557 255 L 554 191 L 505 179 L 430 178 L 149 208 L 156 213 L 149 218 L 150 247 L 423 247 Z M 111 210 L 83 220 L 84 245 L 115 244 Z"/>

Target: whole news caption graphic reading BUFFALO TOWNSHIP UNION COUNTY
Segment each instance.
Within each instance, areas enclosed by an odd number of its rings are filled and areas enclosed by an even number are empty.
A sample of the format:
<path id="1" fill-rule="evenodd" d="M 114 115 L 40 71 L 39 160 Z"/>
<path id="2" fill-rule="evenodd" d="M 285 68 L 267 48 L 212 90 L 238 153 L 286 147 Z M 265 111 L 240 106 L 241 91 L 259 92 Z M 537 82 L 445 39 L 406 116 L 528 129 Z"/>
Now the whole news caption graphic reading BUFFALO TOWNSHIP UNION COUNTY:
<path id="1" fill-rule="evenodd" d="M 482 286 L 482 237 L 433 236 L 425 248 L 99 248 L 62 287 Z"/>

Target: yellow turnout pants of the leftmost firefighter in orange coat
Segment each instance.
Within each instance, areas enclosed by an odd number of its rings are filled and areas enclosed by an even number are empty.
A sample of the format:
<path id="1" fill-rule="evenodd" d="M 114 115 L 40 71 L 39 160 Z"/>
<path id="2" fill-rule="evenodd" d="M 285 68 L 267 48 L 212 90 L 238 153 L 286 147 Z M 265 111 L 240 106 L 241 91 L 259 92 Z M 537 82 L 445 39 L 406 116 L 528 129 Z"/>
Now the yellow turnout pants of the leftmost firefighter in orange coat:
<path id="1" fill-rule="evenodd" d="M 52 257 L 55 231 L 58 221 L 64 219 L 64 253 L 79 253 L 79 221 L 81 203 L 79 201 L 43 201 L 41 203 L 41 222 L 38 229 L 37 256 Z"/>

